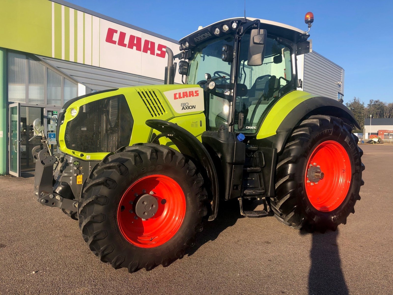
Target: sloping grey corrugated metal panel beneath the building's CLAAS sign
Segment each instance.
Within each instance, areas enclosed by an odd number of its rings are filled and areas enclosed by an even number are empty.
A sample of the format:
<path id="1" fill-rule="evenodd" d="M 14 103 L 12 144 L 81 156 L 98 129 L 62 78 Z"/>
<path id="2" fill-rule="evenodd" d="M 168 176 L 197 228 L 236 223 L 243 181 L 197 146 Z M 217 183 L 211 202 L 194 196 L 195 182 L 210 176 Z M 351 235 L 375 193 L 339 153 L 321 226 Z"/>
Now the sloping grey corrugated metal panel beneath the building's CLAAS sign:
<path id="1" fill-rule="evenodd" d="M 149 77 L 98 68 L 96 66 L 83 65 L 80 63 L 72 63 L 70 61 L 63 61 L 51 57 L 40 56 L 40 58 L 92 90 L 163 84 L 163 80 L 152 79 Z M 164 77 L 164 69 L 162 68 L 157 70 L 161 70 L 162 77 Z"/>

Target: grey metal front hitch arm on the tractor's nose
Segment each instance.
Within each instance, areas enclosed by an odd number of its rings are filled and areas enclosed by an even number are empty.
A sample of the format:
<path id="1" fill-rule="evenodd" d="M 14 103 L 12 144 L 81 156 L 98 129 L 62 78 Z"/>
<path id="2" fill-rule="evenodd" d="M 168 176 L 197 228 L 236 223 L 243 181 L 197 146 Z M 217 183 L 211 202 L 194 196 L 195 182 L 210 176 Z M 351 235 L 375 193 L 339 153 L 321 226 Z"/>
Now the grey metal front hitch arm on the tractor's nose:
<path id="1" fill-rule="evenodd" d="M 37 201 L 42 205 L 76 211 L 77 201 L 53 192 L 53 164 L 56 164 L 58 159 L 50 155 L 48 147 L 43 146 L 42 149 L 41 146 L 35 146 L 31 151 L 33 158 L 37 160 L 34 176 L 34 195 Z"/>

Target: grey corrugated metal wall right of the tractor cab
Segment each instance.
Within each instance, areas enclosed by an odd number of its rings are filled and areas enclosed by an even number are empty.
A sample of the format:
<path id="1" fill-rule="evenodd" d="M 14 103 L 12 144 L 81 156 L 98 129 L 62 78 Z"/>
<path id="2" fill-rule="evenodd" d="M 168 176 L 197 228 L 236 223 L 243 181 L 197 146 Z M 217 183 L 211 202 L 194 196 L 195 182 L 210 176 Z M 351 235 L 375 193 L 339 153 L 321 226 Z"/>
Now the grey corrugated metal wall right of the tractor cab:
<path id="1" fill-rule="evenodd" d="M 337 100 L 343 94 L 343 68 L 316 52 L 304 55 L 303 90 Z"/>

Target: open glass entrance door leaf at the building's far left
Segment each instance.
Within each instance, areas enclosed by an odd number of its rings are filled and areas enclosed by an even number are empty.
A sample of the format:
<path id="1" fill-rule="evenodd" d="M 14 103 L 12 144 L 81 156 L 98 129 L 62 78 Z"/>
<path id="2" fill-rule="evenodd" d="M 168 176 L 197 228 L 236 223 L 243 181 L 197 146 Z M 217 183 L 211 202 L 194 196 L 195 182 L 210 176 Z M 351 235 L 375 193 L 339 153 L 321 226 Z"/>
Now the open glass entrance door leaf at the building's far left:
<path id="1" fill-rule="evenodd" d="M 12 103 L 9 110 L 9 174 L 20 176 L 19 170 L 19 138 L 20 138 L 20 106 L 19 103 Z"/>

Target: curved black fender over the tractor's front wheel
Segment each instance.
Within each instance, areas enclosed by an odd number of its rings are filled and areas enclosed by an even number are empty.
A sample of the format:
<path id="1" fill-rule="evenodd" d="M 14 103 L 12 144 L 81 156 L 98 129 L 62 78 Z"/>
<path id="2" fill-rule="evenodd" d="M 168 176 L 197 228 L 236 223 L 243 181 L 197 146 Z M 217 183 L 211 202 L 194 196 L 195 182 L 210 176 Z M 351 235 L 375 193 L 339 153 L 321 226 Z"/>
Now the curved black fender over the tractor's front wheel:
<path id="1" fill-rule="evenodd" d="M 206 147 L 194 135 L 171 122 L 151 119 L 146 121 L 146 125 L 159 131 L 162 136 L 170 138 L 180 153 L 194 160 L 193 162 L 201 172 L 205 182 L 209 181 L 207 189 L 211 200 L 211 214 L 208 220 L 214 220 L 219 205 L 219 181 L 213 159 L 211 159 Z"/>

